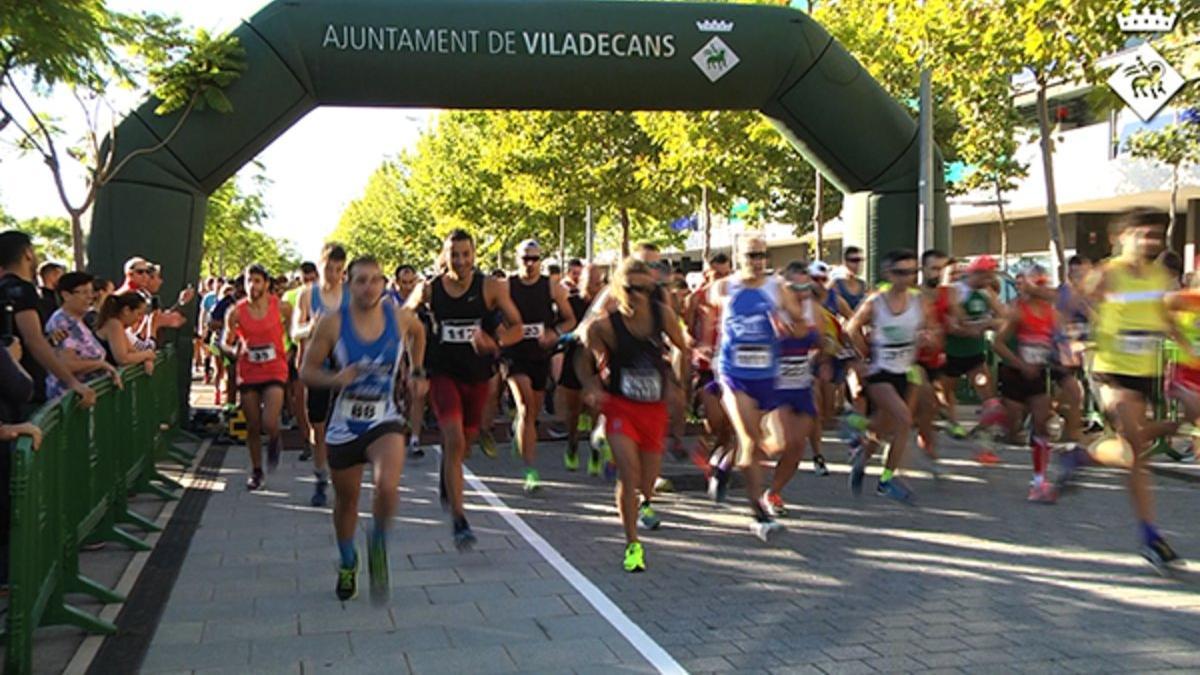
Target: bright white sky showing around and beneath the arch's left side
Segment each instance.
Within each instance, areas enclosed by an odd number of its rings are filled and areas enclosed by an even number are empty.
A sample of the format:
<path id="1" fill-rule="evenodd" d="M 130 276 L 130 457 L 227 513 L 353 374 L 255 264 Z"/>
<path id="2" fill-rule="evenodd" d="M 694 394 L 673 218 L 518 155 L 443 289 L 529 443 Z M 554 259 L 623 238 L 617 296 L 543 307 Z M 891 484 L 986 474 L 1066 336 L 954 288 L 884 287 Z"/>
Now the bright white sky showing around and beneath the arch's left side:
<path id="1" fill-rule="evenodd" d="M 109 0 L 115 11 L 176 14 L 196 28 L 226 31 L 252 16 L 265 0 Z M 130 101 L 133 107 L 140 101 Z M 78 108 L 62 104 L 64 120 Z M 292 239 L 300 253 L 316 258 L 346 205 L 362 193 L 382 161 L 412 148 L 432 119 L 420 109 L 318 108 L 259 154 L 264 174 L 266 231 Z M 70 127 L 64 125 L 67 130 Z M 14 159 L 7 148 L 0 162 L 0 204 L 13 217 L 66 215 L 50 174 L 35 156 Z M 76 186 L 82 181 L 76 180 Z"/>

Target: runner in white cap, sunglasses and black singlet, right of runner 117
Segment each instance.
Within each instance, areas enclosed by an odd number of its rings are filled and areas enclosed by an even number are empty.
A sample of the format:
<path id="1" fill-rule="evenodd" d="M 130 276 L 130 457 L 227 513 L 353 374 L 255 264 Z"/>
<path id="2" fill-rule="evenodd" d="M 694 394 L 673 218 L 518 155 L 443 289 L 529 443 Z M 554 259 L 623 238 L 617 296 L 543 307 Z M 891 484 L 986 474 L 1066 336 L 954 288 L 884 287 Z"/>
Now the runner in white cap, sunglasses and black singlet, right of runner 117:
<path id="1" fill-rule="evenodd" d="M 524 491 L 535 492 L 541 478 L 538 456 L 538 413 L 550 378 L 550 352 L 559 335 L 575 328 L 566 289 L 541 274 L 541 247 L 533 239 L 517 245 L 522 274 L 509 277 L 509 295 L 521 312 L 521 341 L 504 352 L 509 389 L 517 411 L 512 419 L 512 450 L 526 465 Z M 558 309 L 556 323 L 554 309 Z"/>

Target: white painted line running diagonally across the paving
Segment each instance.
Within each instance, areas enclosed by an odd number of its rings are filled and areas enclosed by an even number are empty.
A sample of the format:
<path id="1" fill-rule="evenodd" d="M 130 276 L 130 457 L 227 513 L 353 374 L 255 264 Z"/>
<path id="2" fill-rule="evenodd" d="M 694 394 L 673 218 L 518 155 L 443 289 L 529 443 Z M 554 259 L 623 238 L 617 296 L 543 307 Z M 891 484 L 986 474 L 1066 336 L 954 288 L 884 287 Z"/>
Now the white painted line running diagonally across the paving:
<path id="1" fill-rule="evenodd" d="M 521 516 L 509 504 L 497 497 L 496 492 L 485 485 L 466 465 L 462 467 L 462 474 L 472 489 L 482 495 L 484 500 L 504 518 L 504 521 L 516 530 L 517 534 L 521 534 L 551 567 L 562 574 L 563 579 L 566 579 L 566 583 L 583 596 L 583 599 L 592 603 L 592 607 L 600 613 L 600 616 L 629 640 L 629 644 L 634 645 L 634 649 L 646 657 L 646 661 L 650 662 L 650 665 L 656 668 L 659 673 L 688 673 L 661 645 L 647 635 L 646 631 L 642 631 L 637 623 L 634 623 L 629 616 L 625 616 L 625 613 L 614 602 L 608 599 L 608 596 L 604 595 L 595 584 L 588 580 L 583 573 L 554 550 L 554 546 L 550 545 L 550 542 L 534 532 L 524 520 L 521 520 Z"/>

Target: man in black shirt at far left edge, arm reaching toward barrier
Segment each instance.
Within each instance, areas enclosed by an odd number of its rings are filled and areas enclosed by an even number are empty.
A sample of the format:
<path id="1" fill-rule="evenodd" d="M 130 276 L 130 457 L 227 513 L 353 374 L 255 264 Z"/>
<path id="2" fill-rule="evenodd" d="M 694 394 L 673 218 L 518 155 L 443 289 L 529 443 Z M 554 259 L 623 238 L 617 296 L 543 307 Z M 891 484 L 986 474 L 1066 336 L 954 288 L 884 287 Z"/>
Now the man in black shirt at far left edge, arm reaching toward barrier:
<path id="1" fill-rule="evenodd" d="M 46 400 L 46 372 L 49 371 L 79 395 L 82 406 L 95 405 L 96 392 L 79 382 L 58 359 L 42 333 L 37 287 L 32 283 L 37 253 L 28 234 L 16 229 L 0 232 L 0 268 L 5 271 L 0 277 L 0 342 L 8 344 L 12 336 L 20 339 L 24 347 L 20 365 L 34 378 L 31 404 L 37 406 Z M 26 412 L 32 412 L 32 407 Z"/>

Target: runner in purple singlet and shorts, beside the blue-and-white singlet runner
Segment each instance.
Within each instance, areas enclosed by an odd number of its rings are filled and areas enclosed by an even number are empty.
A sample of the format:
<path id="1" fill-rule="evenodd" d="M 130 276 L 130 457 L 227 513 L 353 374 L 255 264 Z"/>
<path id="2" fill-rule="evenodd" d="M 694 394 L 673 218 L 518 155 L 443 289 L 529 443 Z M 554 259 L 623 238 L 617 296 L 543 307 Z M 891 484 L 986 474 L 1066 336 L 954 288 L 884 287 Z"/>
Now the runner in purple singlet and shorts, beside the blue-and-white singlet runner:
<path id="1" fill-rule="evenodd" d="M 784 271 L 784 293 L 791 294 L 804 309 L 808 331 L 803 335 L 785 335 L 779 345 L 779 377 L 775 378 L 775 396 L 779 407 L 767 422 L 772 437 L 767 446 L 775 453 L 784 453 L 775 465 L 770 489 L 764 497 L 772 515 L 787 515 L 781 495 L 787 483 L 804 459 L 804 446 L 809 442 L 817 408 L 812 398 L 812 374 L 821 358 L 822 331 L 818 321 L 826 321 L 812 300 L 812 277 L 804 263 L 788 263 Z M 817 476 L 828 476 L 821 449 L 812 447 L 812 465 Z"/>

